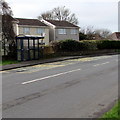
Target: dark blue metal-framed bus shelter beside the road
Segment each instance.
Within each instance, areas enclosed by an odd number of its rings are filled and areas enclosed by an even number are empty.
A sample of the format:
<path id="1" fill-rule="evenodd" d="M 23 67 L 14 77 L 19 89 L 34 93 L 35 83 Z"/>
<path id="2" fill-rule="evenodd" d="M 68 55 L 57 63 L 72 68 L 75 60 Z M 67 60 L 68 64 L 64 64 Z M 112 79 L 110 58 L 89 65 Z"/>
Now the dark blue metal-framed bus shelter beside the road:
<path id="1" fill-rule="evenodd" d="M 44 37 L 16 37 L 17 59 L 19 61 L 37 60 L 42 56 Z"/>

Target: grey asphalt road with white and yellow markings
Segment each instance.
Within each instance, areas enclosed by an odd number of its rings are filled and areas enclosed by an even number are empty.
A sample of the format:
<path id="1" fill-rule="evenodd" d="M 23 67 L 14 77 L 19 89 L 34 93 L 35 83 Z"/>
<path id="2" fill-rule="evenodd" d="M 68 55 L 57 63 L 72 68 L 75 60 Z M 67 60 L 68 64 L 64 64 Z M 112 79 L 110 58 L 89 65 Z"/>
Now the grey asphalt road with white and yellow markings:
<path id="1" fill-rule="evenodd" d="M 118 56 L 2 72 L 3 118 L 95 118 L 118 99 Z"/>

